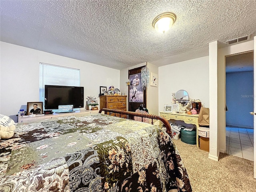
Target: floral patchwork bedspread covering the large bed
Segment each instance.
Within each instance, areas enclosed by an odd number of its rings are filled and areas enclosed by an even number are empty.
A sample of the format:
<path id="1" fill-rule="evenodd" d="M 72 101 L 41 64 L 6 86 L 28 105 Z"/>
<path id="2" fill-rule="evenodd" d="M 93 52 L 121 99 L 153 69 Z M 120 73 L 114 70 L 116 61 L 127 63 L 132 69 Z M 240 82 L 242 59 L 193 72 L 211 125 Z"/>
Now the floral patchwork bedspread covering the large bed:
<path id="1" fill-rule="evenodd" d="M 104 114 L 19 123 L 0 140 L 0 191 L 192 191 L 170 136 Z"/>

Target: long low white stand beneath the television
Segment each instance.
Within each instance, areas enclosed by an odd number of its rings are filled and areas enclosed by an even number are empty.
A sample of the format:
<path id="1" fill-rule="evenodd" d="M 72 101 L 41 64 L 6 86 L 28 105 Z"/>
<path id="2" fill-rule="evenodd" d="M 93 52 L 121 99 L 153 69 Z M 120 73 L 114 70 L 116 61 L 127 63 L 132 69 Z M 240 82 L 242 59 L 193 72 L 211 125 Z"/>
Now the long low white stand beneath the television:
<path id="1" fill-rule="evenodd" d="M 83 114 L 94 114 L 94 113 L 96 114 L 98 112 L 99 112 L 99 110 L 80 109 L 80 110 L 75 110 L 71 113 L 69 113 L 69 112 L 55 113 L 54 112 L 53 114 L 39 114 L 34 117 L 27 115 L 27 116 L 18 117 L 18 123 L 36 122 L 36 121 L 40 121 L 40 120 L 44 120 L 44 119 L 54 119 L 54 118 L 63 117 L 63 116 L 73 116 L 74 114 L 81 114 L 81 116 L 82 116 Z"/>

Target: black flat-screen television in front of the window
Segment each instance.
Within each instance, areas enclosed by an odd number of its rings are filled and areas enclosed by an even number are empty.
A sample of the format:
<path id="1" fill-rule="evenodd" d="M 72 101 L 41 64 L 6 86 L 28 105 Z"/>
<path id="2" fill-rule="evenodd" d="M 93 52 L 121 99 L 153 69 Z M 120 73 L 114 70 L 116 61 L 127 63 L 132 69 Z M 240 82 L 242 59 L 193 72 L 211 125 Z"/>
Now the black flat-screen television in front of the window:
<path id="1" fill-rule="evenodd" d="M 59 105 L 73 105 L 74 108 L 84 107 L 84 87 L 76 86 L 44 86 L 45 109 L 58 109 Z"/>

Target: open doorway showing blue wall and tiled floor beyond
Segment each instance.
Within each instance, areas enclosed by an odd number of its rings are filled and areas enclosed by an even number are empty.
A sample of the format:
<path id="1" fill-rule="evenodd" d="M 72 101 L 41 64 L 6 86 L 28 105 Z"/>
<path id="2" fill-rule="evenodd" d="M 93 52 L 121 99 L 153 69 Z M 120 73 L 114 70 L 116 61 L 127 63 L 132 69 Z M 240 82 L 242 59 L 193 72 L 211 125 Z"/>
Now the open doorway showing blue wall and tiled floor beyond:
<path id="1" fill-rule="evenodd" d="M 254 160 L 254 51 L 226 56 L 226 153 Z"/>

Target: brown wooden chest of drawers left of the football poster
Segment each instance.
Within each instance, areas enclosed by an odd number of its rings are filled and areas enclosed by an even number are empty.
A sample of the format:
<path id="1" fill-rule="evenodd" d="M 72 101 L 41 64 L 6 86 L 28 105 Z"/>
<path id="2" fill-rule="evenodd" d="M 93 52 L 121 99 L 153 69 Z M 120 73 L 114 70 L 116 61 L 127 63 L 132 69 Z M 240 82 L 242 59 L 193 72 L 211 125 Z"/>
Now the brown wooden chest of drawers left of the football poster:
<path id="1" fill-rule="evenodd" d="M 100 109 L 108 108 L 126 111 L 126 97 L 126 95 L 102 95 L 100 96 Z M 115 114 L 113 113 L 110 115 L 114 116 Z M 121 117 L 124 116 L 126 115 L 121 115 Z"/>

